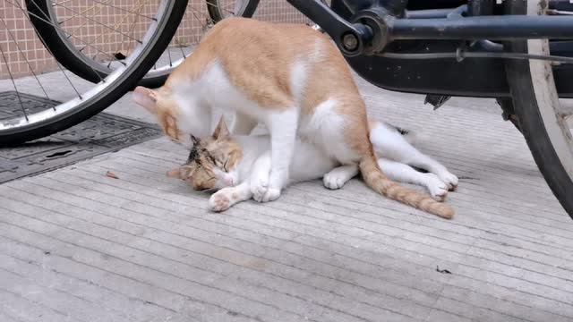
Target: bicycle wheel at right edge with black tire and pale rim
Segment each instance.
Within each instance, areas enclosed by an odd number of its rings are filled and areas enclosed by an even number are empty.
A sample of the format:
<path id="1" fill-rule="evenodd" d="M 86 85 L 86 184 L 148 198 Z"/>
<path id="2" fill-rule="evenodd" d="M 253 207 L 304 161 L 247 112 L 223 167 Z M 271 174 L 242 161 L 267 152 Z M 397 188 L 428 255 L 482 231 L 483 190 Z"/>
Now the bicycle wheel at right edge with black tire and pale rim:
<path id="1" fill-rule="evenodd" d="M 544 14 L 546 0 L 507 2 L 509 14 Z M 512 41 L 512 51 L 550 55 L 547 40 Z M 560 204 L 573 218 L 573 106 L 555 89 L 552 64 L 540 60 L 506 63 L 514 109 L 535 163 Z"/>

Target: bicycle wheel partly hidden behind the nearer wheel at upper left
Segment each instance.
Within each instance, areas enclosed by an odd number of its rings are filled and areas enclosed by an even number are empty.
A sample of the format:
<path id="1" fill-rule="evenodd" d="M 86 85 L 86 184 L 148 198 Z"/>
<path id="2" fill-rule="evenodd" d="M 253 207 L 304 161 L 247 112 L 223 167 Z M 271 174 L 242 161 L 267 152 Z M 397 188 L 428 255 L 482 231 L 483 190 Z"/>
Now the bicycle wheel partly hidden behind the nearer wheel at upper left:
<path id="1" fill-rule="evenodd" d="M 76 12 L 75 14 L 83 12 L 81 14 L 84 16 L 89 15 L 86 13 L 101 12 L 107 5 L 110 5 L 110 1 L 92 0 L 93 4 L 82 8 L 81 11 L 75 9 L 78 4 L 81 4 L 81 2 L 74 4 L 74 2 L 78 1 L 79 0 L 26 0 L 26 3 L 28 4 L 30 13 L 34 13 L 30 15 L 30 21 L 45 40 L 45 46 L 50 49 L 56 59 L 67 70 L 80 76 L 82 79 L 98 82 L 101 78 L 106 78 L 109 73 L 113 72 L 114 66 L 102 62 L 101 59 L 98 59 L 100 58 L 98 55 L 93 55 L 93 48 L 86 47 L 84 44 L 67 37 L 66 31 L 69 28 L 73 28 L 69 27 L 69 25 L 73 26 L 75 24 L 74 21 L 70 21 L 68 16 L 69 13 L 73 12 Z M 122 19 L 116 23 L 115 28 L 133 30 L 138 20 L 125 18 L 130 14 L 135 17 L 141 17 L 141 12 L 147 3 L 148 1 L 133 1 L 131 4 L 125 5 Z M 258 3 L 258 0 L 206 0 L 207 10 L 198 9 L 195 5 L 190 4 L 189 7 L 184 10 L 185 18 L 183 21 L 188 19 L 197 20 L 187 25 L 201 24 L 202 28 L 207 30 L 209 26 L 212 26 L 217 21 L 229 15 L 252 16 Z M 111 3 L 111 5 L 113 5 L 113 3 Z M 191 14 L 187 15 L 187 12 Z M 185 22 L 182 22 L 182 24 L 185 24 Z M 56 26 L 58 26 L 58 28 L 56 28 Z M 108 47 L 105 41 L 106 38 L 108 38 L 106 35 L 107 30 L 100 31 L 98 35 L 86 33 L 85 36 L 81 35 L 80 37 L 90 38 L 90 42 L 98 43 L 93 45 L 94 47 L 98 47 L 98 50 L 103 50 L 101 47 L 105 47 L 107 51 L 110 51 L 108 55 L 119 55 L 120 57 L 126 55 L 122 52 L 126 50 L 125 46 L 123 46 L 124 48 L 119 48 L 121 46 Z M 162 55 L 162 58 L 158 60 L 157 64 L 153 65 L 153 68 L 150 68 L 150 71 L 140 80 L 139 85 L 149 88 L 157 88 L 163 85 L 169 73 L 190 54 L 192 44 L 189 41 L 178 41 L 179 39 L 180 38 L 172 39 L 169 46 L 170 49 Z M 129 50 L 129 47 L 127 50 Z"/>

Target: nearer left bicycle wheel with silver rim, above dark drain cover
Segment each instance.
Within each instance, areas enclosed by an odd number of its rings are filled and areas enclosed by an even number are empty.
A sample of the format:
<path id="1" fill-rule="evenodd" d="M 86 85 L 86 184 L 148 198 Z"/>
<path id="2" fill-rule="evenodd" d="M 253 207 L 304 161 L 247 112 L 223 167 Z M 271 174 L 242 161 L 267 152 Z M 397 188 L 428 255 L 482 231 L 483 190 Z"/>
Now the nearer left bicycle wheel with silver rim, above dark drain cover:
<path id="1" fill-rule="evenodd" d="M 35 15 L 36 13 L 33 11 L 27 12 L 15 0 L 6 0 L 5 2 L 13 6 L 14 13 L 21 12 L 21 19 L 24 21 L 29 16 L 38 18 Z M 70 0 L 66 0 L 66 2 L 70 3 Z M 110 4 L 110 1 L 107 1 L 106 4 Z M 0 45 L 0 52 L 5 65 L 5 69 L 2 68 L 0 70 L 7 71 L 10 77 L 10 80 L 0 82 L 0 88 L 4 89 L 11 84 L 13 86 L 12 90 L 15 91 L 17 96 L 17 100 L 15 100 L 16 106 L 0 106 L 0 145 L 18 144 L 45 137 L 57 131 L 63 131 L 97 114 L 113 104 L 127 91 L 133 89 L 137 81 L 141 80 L 141 77 L 149 71 L 150 67 L 157 61 L 169 44 L 183 17 L 186 4 L 186 0 L 162 0 L 154 4 L 148 4 L 145 8 L 145 19 L 142 19 L 141 24 L 138 26 L 139 30 L 133 32 L 131 36 L 128 35 L 134 38 L 137 43 L 130 55 L 125 57 L 125 59 L 119 60 L 107 55 L 107 53 L 103 53 L 102 55 L 107 56 L 107 64 L 110 66 L 114 65 L 115 70 L 105 78 L 99 79 L 100 81 L 97 84 L 82 82 L 74 78 L 69 72 L 64 71 L 64 68 L 59 64 L 54 64 L 56 72 L 44 73 L 44 71 L 38 72 L 37 69 L 35 70 L 34 67 L 39 65 L 38 61 L 29 58 L 26 48 L 22 46 L 28 46 L 28 44 L 19 44 L 20 41 L 28 41 L 27 39 L 21 40 L 21 37 L 25 35 L 19 34 L 20 36 L 16 37 L 16 32 L 10 29 L 11 24 L 5 21 L 3 17 L 0 17 L 0 28 L 6 29 L 6 33 L 9 35 L 8 40 L 13 42 L 10 46 L 5 46 L 4 49 L 2 48 L 3 45 Z M 113 5 L 113 8 L 110 6 L 107 9 L 109 9 L 106 13 L 108 21 L 113 18 L 109 11 L 124 12 L 125 10 L 119 5 Z M 80 10 L 75 9 L 75 12 L 80 13 Z M 97 30 L 98 28 L 109 30 L 110 33 L 115 34 L 115 41 L 120 41 L 120 36 L 125 36 L 124 30 L 117 30 L 109 26 L 108 23 L 101 22 L 96 15 L 84 17 L 86 15 L 83 12 L 81 21 L 90 21 L 89 30 Z M 79 29 L 84 27 L 81 25 L 81 22 L 79 22 L 78 26 Z M 52 27 L 58 32 L 64 32 L 56 24 L 52 24 Z M 77 34 L 80 32 L 78 31 Z M 71 30 L 66 31 L 68 38 L 80 39 L 78 41 L 81 42 L 81 38 L 77 37 L 77 34 Z M 38 35 L 39 38 L 42 37 L 41 33 L 38 33 Z M 41 41 L 47 43 L 46 39 L 42 38 Z M 33 42 L 30 41 L 30 43 Z M 90 43 L 85 40 L 83 40 L 83 44 L 86 47 L 90 47 Z M 10 51 L 14 50 L 14 48 L 17 48 L 17 50 L 15 50 L 15 53 L 11 53 Z M 47 49 L 49 53 L 51 49 Z M 34 53 L 34 56 L 37 54 Z M 43 55 L 45 53 L 42 52 L 40 54 Z M 14 68 L 17 64 L 11 63 L 14 56 L 18 56 L 20 61 L 25 61 L 30 72 L 24 73 L 24 75 L 30 75 L 33 78 L 17 78 L 17 74 L 20 71 L 16 71 Z M 41 63 L 45 64 L 44 61 L 41 61 Z M 21 66 L 17 67 L 20 68 Z M 56 83 L 56 80 L 64 82 L 64 85 L 53 85 Z M 32 81 L 35 81 L 34 84 L 30 84 Z M 42 108 L 42 106 L 34 106 L 34 108 L 29 108 L 25 104 L 26 96 L 24 93 L 34 90 L 35 94 L 39 93 L 44 98 L 52 100 L 53 98 L 58 98 L 64 103 L 53 107 Z"/>

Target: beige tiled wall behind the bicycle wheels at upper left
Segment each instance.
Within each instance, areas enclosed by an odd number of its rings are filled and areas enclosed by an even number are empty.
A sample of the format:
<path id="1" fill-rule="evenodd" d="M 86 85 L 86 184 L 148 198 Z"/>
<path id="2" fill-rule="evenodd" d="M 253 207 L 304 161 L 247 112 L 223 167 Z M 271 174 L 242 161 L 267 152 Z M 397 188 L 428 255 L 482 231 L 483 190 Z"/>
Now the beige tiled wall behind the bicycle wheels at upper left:
<path id="1" fill-rule="evenodd" d="M 84 47 L 86 42 L 90 43 L 90 47 L 85 49 L 85 52 L 90 55 L 96 55 L 98 50 L 110 54 L 118 51 L 128 52 L 130 48 L 133 48 L 133 41 L 126 41 L 128 38 L 113 31 L 110 32 L 99 23 L 86 19 L 85 16 L 104 22 L 107 26 L 116 25 L 116 28 L 122 30 L 124 34 L 136 38 L 145 30 L 147 23 L 141 18 L 139 22 L 134 21 L 133 17 L 136 15 L 133 14 L 128 16 L 128 19 L 133 21 L 122 21 L 125 20 L 126 13 L 118 8 L 131 11 L 134 10 L 133 8 L 138 8 L 141 10 L 139 12 L 141 14 L 146 12 L 152 14 L 158 4 L 158 0 L 99 0 L 98 2 L 56 0 L 55 2 L 66 7 L 65 9 L 58 9 L 58 16 L 65 20 L 62 24 L 63 29 L 73 30 L 73 34 L 77 36 L 73 39 L 76 46 Z M 117 8 L 110 8 L 98 3 L 113 4 Z M 233 2 L 227 1 L 227 3 Z M 0 79 L 7 78 L 8 72 L 12 72 L 14 77 L 30 75 L 30 67 L 37 73 L 49 72 L 57 68 L 56 61 L 43 47 L 19 6 L 25 7 L 23 0 L 0 1 L 0 18 L 2 18 L 0 21 L 0 47 L 5 57 L 4 60 L 4 57 L 0 56 Z M 174 42 L 178 44 L 196 43 L 204 32 L 203 26 L 208 17 L 204 0 L 190 0 L 184 21 L 175 35 Z M 255 18 L 264 21 L 307 21 L 302 14 L 297 13 L 290 4 L 287 4 L 286 0 L 261 0 Z M 14 42 L 13 38 L 17 41 Z M 105 56 L 103 54 L 97 55 L 100 59 L 105 59 Z"/>

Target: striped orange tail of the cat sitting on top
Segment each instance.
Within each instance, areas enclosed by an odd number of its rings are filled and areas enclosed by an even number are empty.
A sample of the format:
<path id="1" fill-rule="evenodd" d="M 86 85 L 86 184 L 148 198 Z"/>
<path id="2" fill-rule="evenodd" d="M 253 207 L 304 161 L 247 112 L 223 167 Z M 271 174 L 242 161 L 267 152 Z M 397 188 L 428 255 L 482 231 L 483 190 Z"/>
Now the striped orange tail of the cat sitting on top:
<path id="1" fill-rule="evenodd" d="M 381 195 L 442 218 L 451 219 L 454 216 L 454 209 L 448 205 L 438 202 L 422 192 L 406 188 L 398 182 L 389 180 L 382 173 L 378 161 L 372 153 L 363 157 L 359 167 L 364 182 Z"/>

